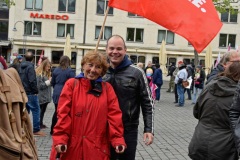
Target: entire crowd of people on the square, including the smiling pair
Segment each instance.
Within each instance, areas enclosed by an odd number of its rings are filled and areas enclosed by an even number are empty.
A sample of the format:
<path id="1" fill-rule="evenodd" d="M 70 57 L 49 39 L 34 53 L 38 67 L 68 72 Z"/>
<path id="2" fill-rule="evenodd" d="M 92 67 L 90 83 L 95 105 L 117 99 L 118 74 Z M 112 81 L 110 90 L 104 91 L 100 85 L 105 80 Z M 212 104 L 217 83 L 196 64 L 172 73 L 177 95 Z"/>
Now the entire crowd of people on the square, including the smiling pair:
<path id="1" fill-rule="evenodd" d="M 134 160 L 140 113 L 143 141 L 147 146 L 153 143 L 154 103 L 161 105 L 162 64 L 149 61 L 146 68 L 142 63 L 134 65 L 126 53 L 123 38 L 113 35 L 107 40 L 106 55 L 97 51 L 84 55 L 78 75 L 70 68 L 68 56 L 62 56 L 53 71 L 46 57 L 35 67 L 31 52 L 17 56 L 9 66 L 22 80 L 35 136 L 46 136 L 41 130 L 47 127 L 44 114 L 48 104 L 54 103 L 51 160 L 59 153 L 62 160 Z M 6 69 L 2 59 L 0 62 Z M 238 159 L 239 68 L 237 51 L 225 53 L 209 75 L 201 65 L 183 61 L 177 66 L 170 64 L 167 92 L 174 93 L 176 107 L 184 107 L 185 100 L 191 100 L 193 116 L 198 119 L 189 144 L 191 159 Z"/>

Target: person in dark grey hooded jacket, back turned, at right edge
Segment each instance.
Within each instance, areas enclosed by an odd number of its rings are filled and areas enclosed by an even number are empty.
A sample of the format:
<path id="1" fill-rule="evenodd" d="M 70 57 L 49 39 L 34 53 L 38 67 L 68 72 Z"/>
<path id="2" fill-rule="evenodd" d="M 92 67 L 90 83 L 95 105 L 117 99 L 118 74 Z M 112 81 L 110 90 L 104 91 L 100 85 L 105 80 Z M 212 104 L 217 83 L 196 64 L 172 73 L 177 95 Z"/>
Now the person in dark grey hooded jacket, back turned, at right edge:
<path id="1" fill-rule="evenodd" d="M 234 62 L 209 83 L 194 106 L 199 120 L 189 145 L 189 157 L 194 160 L 237 160 L 238 154 L 229 121 L 240 63 Z"/>

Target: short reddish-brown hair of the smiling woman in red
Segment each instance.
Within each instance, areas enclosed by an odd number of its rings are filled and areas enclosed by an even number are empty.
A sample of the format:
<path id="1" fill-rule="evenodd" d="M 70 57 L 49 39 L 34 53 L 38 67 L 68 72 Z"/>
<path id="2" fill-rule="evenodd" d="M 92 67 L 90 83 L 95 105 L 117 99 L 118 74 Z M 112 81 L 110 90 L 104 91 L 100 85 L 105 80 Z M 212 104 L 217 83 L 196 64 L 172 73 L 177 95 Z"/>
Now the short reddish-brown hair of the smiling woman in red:
<path id="1" fill-rule="evenodd" d="M 88 62 L 97 63 L 102 67 L 101 76 L 105 75 L 105 73 L 107 72 L 107 69 L 109 67 L 109 64 L 107 63 L 107 57 L 100 52 L 95 52 L 92 50 L 88 51 L 85 54 L 85 56 L 82 58 L 81 66 L 83 67 L 83 65 Z"/>

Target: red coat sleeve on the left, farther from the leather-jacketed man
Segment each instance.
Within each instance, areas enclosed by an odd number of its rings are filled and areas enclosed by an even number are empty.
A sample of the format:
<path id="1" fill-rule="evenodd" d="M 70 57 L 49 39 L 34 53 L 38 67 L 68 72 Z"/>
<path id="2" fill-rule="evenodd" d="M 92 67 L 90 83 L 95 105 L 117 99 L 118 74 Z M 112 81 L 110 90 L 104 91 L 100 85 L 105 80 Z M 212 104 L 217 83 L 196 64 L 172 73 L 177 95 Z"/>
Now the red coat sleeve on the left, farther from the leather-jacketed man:
<path id="1" fill-rule="evenodd" d="M 68 143 L 72 123 L 71 117 L 69 115 L 72 106 L 74 80 L 74 78 L 71 78 L 65 83 L 59 97 L 57 108 L 58 121 L 54 127 L 54 132 L 52 136 L 54 146 L 58 144 Z"/>

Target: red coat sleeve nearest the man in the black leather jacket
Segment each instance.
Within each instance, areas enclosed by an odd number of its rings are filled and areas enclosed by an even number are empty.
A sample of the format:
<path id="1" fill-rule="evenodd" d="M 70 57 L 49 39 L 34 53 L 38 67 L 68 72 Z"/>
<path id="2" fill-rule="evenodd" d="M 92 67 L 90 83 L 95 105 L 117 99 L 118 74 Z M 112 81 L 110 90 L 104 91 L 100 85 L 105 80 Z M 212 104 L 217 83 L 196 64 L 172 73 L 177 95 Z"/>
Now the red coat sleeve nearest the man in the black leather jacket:
<path id="1" fill-rule="evenodd" d="M 126 147 L 126 143 L 123 138 L 122 111 L 119 108 L 118 99 L 112 86 L 107 82 L 105 83 L 107 84 L 106 87 L 110 142 L 114 148 L 118 145 L 124 145 Z"/>

